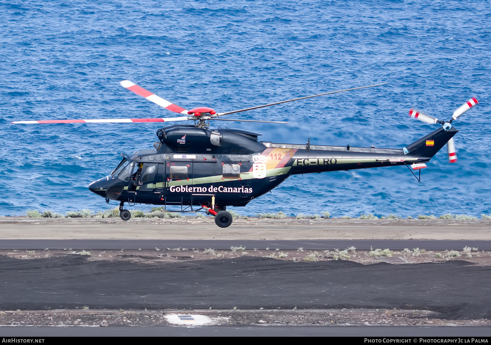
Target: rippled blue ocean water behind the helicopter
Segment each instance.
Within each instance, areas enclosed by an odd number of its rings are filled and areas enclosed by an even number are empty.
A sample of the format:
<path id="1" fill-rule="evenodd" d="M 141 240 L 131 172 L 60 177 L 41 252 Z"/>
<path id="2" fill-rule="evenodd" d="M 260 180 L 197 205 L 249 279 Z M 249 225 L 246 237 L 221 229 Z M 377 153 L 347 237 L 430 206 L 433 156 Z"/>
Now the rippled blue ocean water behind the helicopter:
<path id="1" fill-rule="evenodd" d="M 158 123 L 16 125 L 47 119 L 168 117 L 119 86 L 130 79 L 187 109 L 217 111 L 386 82 L 234 115 L 261 140 L 402 148 L 456 127 L 417 182 L 406 167 L 292 176 L 236 209 L 343 216 L 489 214 L 490 1 L 1 1 L 0 215 L 115 207 L 87 185 L 119 153 L 152 148 Z M 232 116 L 231 116 L 232 117 Z M 223 125 L 223 123 L 220 123 Z M 138 205 L 136 206 L 138 207 Z M 140 209 L 148 206 L 141 205 Z"/>

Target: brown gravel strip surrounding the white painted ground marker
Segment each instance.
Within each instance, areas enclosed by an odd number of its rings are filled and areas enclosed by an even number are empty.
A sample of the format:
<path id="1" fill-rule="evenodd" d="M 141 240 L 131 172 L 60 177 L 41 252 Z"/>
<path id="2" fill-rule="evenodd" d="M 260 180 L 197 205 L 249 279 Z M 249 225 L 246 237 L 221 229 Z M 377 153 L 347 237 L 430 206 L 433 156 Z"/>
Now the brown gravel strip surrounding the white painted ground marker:
<path id="1" fill-rule="evenodd" d="M 440 325 L 491 326 L 491 320 L 442 320 L 425 310 L 52 310 L 1 311 L 4 326 L 170 325 L 168 315 L 205 315 L 210 325 Z M 184 325 L 189 326 L 189 325 Z"/>

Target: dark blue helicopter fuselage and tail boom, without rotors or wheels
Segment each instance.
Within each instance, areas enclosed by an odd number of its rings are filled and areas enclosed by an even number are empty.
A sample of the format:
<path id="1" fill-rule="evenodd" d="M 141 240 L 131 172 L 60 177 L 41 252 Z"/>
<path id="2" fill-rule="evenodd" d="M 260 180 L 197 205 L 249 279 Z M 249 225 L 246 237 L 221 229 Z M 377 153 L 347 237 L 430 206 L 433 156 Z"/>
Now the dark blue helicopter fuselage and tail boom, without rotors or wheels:
<path id="1" fill-rule="evenodd" d="M 106 200 L 188 206 L 245 206 L 292 174 L 428 162 L 457 133 L 439 128 L 403 149 L 276 144 L 241 129 L 167 126 L 155 150 L 124 156 L 108 176 L 89 185 Z M 428 145 L 431 142 L 432 145 Z"/>

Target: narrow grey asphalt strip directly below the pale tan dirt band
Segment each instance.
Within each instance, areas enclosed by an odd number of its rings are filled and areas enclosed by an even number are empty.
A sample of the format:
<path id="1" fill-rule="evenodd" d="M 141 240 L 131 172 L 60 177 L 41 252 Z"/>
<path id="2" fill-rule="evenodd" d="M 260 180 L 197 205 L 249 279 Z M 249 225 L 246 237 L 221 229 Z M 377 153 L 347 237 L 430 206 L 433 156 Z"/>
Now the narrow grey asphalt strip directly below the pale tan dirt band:
<path id="1" fill-rule="evenodd" d="M 355 246 L 358 250 L 372 248 L 420 248 L 426 250 L 462 250 L 464 246 L 479 250 L 491 250 L 491 241 L 462 240 L 0 240 L 0 249 L 155 249 L 157 248 L 213 248 L 227 250 L 230 246 L 246 246 L 247 249 L 279 248 L 295 250 L 345 249 Z"/>

